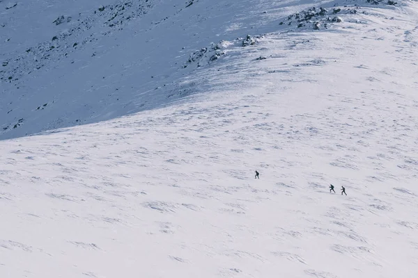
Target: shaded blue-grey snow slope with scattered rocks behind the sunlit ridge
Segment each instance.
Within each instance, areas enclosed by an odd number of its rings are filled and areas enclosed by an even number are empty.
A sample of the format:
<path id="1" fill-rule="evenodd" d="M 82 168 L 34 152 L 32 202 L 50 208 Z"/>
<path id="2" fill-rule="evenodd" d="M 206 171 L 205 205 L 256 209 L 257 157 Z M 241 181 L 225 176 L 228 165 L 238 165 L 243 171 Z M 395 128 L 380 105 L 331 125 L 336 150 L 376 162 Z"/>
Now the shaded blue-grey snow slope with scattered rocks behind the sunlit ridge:
<path id="1" fill-rule="evenodd" d="M 277 31 L 295 3 L 1 1 L 0 138 L 167 104 L 190 54 Z"/>

